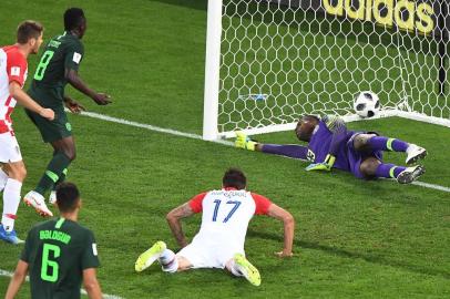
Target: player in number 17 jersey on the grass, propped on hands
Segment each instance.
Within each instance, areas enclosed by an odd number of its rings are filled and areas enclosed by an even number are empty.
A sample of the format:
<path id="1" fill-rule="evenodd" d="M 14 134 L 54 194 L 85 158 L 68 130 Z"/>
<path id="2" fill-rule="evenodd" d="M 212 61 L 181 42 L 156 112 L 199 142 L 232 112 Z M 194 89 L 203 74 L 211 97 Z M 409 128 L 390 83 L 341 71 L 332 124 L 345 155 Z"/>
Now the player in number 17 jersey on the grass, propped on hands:
<path id="1" fill-rule="evenodd" d="M 246 177 L 231 168 L 223 177 L 223 188 L 202 193 L 167 214 L 167 221 L 183 249 L 176 255 L 157 241 L 136 260 L 135 270 L 143 271 L 157 260 L 166 272 L 192 268 L 226 268 L 244 276 L 254 286 L 260 285 L 258 270 L 245 258 L 244 243 L 253 215 L 267 215 L 283 220 L 284 249 L 279 257 L 293 255 L 294 218 L 266 197 L 245 190 Z M 201 213 L 202 226 L 191 244 L 183 234 L 180 219 Z"/>

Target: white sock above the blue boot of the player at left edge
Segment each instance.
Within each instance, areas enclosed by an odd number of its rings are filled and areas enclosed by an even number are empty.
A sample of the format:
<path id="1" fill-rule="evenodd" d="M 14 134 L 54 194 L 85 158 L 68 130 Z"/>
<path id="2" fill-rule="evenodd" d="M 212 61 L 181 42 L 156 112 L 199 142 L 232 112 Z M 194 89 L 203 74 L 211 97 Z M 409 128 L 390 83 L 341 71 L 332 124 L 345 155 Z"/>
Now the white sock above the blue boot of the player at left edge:
<path id="1" fill-rule="evenodd" d="M 3 192 L 3 215 L 1 217 L 1 224 L 7 231 L 14 229 L 14 220 L 20 204 L 21 188 L 22 183 L 13 178 L 8 178 Z"/>

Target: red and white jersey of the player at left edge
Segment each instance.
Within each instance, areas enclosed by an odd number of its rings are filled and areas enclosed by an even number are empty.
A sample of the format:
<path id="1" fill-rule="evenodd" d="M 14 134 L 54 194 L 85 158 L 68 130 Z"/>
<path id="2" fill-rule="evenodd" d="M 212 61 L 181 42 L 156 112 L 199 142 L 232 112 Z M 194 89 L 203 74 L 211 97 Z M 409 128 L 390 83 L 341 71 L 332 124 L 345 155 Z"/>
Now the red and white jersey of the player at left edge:
<path id="1" fill-rule="evenodd" d="M 11 113 L 16 100 L 9 93 L 9 84 L 16 81 L 23 87 L 27 73 L 27 59 L 17 45 L 0 49 L 0 134 L 12 132 Z"/>

